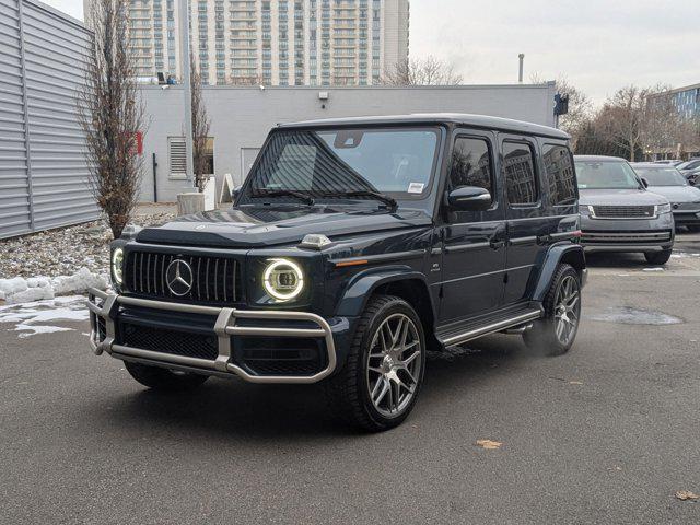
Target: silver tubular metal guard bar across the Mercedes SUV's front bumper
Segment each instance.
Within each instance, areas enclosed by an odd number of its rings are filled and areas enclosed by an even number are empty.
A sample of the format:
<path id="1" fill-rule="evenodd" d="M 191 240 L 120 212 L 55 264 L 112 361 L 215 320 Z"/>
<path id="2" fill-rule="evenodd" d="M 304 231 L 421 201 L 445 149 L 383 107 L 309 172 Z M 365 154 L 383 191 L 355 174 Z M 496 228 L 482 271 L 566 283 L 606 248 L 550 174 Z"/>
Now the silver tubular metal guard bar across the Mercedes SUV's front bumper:
<path id="1" fill-rule="evenodd" d="M 89 290 L 90 345 L 95 354 L 103 352 L 114 358 L 143 362 L 156 366 L 187 370 L 208 375 L 238 376 L 250 383 L 317 383 L 332 374 L 338 364 L 334 328 L 323 317 L 307 312 L 247 311 L 226 307 L 200 306 L 137 299 L 96 289 Z M 148 308 L 158 313 L 190 314 L 191 316 L 215 317 L 211 329 L 215 337 L 215 359 L 167 353 L 165 349 L 136 348 L 125 345 L 118 335 L 120 308 Z M 237 324 L 242 319 L 245 325 Z M 255 326 L 256 323 L 258 326 Z M 294 326 L 296 325 L 296 326 Z M 298 327 L 298 326 L 303 327 Z M 308 326 L 313 327 L 308 327 Z M 343 332 L 347 324 L 336 325 Z M 322 370 L 312 375 L 259 375 L 234 362 L 233 340 L 252 338 L 304 338 L 319 339 L 325 346 Z"/>

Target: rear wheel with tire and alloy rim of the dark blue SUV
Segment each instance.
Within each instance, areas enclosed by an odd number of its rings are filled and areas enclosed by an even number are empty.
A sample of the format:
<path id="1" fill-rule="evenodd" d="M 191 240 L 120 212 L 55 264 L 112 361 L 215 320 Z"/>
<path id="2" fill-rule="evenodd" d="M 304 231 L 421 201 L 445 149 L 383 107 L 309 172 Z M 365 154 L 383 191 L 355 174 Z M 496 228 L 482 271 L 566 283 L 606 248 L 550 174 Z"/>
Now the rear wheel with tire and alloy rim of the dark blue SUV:
<path id="1" fill-rule="evenodd" d="M 542 302 L 545 317 L 523 334 L 525 345 L 548 355 L 569 351 L 581 322 L 581 280 L 570 265 L 560 265 Z"/>

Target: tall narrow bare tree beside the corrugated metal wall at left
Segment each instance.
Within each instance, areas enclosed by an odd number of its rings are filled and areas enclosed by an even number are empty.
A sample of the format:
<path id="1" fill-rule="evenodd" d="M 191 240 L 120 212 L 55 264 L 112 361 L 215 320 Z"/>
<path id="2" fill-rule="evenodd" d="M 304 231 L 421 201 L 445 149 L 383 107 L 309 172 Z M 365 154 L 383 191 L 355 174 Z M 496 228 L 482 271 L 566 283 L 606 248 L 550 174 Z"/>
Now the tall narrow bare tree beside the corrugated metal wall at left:
<path id="1" fill-rule="evenodd" d="M 94 0 L 85 83 L 78 109 L 85 133 L 89 184 L 114 237 L 129 222 L 138 199 L 142 156 L 143 105 L 136 83 L 136 56 L 129 49 L 126 0 Z"/>

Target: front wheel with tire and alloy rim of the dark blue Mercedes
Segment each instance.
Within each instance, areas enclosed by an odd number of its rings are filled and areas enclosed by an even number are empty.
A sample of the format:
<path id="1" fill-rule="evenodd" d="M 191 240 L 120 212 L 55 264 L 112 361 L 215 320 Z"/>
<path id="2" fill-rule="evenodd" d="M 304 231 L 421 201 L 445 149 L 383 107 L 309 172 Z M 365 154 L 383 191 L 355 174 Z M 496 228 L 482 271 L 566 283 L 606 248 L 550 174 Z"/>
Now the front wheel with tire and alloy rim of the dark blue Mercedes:
<path id="1" fill-rule="evenodd" d="M 409 415 L 423 381 L 425 337 L 400 298 L 370 299 L 346 365 L 326 383 L 330 409 L 355 427 L 381 432 Z"/>

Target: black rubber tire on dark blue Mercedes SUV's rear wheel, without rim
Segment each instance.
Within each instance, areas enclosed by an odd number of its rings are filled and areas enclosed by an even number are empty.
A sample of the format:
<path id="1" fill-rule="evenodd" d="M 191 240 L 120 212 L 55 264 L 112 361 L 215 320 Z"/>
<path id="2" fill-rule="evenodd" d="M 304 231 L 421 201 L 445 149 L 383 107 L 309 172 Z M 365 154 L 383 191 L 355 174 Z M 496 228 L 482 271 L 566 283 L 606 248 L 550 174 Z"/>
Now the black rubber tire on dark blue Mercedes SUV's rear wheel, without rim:
<path id="1" fill-rule="evenodd" d="M 567 283 L 572 283 L 575 287 L 578 300 L 572 311 L 565 313 L 568 319 L 573 319 L 573 326 L 562 340 L 558 335 L 558 323 L 563 322 L 558 320 L 557 314 L 558 308 L 561 307 L 560 301 L 563 299 L 561 295 L 563 293 L 562 287 L 567 287 Z M 523 340 L 528 348 L 545 355 L 562 355 L 571 349 L 581 323 L 581 278 L 573 267 L 567 264 L 559 265 L 542 306 L 545 316 L 537 319 L 533 327 L 523 334 Z M 570 324 L 567 323 L 564 326 L 570 326 Z"/>

